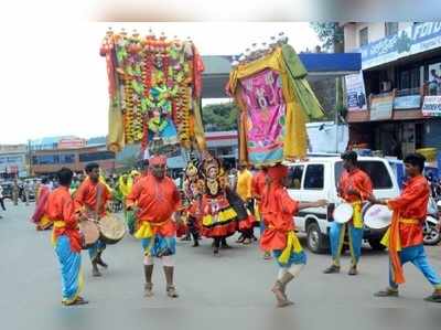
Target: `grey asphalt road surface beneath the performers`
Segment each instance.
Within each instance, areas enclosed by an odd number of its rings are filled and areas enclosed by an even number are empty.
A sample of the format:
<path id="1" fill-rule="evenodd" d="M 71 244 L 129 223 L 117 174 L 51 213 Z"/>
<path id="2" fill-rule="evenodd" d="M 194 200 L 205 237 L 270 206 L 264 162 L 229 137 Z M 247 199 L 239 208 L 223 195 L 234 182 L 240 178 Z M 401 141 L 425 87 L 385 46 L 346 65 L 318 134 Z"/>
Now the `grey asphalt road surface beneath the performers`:
<path id="1" fill-rule="evenodd" d="M 143 298 L 142 249 L 129 235 L 108 246 L 101 278 L 92 277 L 83 253 L 83 296 L 90 304 L 63 307 L 50 232 L 35 232 L 29 222 L 33 204 L 7 207 L 0 211 L 0 329 L 441 329 L 441 304 L 422 300 L 432 288 L 412 265 L 405 267 L 399 298 L 373 297 L 387 285 L 388 258 L 368 247 L 355 277 L 346 274 L 347 255 L 341 274 L 324 275 L 330 256 L 308 252 L 306 267 L 288 287 L 295 305 L 278 309 L 270 291 L 275 262 L 263 260 L 257 244 L 239 246 L 235 237 L 234 248 L 218 257 L 209 239 L 196 248 L 179 242 L 178 299 L 165 296 L 160 262 L 155 296 Z M 441 246 L 427 252 L 441 273 Z"/>

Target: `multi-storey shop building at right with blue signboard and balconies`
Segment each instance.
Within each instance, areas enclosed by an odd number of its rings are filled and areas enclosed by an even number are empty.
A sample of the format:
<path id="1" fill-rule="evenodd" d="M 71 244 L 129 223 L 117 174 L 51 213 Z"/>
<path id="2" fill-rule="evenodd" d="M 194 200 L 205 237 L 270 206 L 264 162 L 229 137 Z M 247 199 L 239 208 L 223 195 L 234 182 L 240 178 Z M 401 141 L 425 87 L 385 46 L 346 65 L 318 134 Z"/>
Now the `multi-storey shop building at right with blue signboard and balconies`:
<path id="1" fill-rule="evenodd" d="M 347 114 L 351 143 L 398 158 L 441 150 L 441 22 L 344 23 L 344 33 L 345 52 L 362 54 L 367 104 Z"/>

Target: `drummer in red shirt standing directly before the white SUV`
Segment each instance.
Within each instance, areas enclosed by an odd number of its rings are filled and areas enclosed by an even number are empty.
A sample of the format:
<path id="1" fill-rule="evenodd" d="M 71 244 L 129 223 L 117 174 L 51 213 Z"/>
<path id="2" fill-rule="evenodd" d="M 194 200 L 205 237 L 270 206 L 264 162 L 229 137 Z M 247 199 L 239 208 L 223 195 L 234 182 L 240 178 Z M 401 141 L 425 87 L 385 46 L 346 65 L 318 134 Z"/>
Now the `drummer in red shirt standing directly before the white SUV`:
<path id="1" fill-rule="evenodd" d="M 340 224 L 335 221 L 331 224 L 330 241 L 332 253 L 332 265 L 323 273 L 340 273 L 340 257 L 347 228 L 349 238 L 349 249 L 352 264 L 349 275 L 357 275 L 357 264 L 362 255 L 363 243 L 363 217 L 362 203 L 365 202 L 373 193 L 373 184 L 369 177 L 357 166 L 357 153 L 347 151 L 342 155 L 344 171 L 338 182 L 338 195 L 349 203 L 354 210 L 352 220 L 348 223 Z"/>

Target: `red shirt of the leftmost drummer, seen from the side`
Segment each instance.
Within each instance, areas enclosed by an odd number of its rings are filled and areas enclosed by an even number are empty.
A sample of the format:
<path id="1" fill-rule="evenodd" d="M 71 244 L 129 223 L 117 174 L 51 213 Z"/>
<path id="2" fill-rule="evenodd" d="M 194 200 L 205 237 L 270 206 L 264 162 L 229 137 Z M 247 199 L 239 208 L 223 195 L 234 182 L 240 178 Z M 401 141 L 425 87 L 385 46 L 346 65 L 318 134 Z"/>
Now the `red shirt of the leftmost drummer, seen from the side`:
<path id="1" fill-rule="evenodd" d="M 71 248 L 74 252 L 80 252 L 82 245 L 78 223 L 75 214 L 74 201 L 68 188 L 60 187 L 49 195 L 46 215 L 53 222 L 64 222 L 64 226 L 54 225 L 55 237 L 61 235 L 68 236 L 71 238 Z"/>

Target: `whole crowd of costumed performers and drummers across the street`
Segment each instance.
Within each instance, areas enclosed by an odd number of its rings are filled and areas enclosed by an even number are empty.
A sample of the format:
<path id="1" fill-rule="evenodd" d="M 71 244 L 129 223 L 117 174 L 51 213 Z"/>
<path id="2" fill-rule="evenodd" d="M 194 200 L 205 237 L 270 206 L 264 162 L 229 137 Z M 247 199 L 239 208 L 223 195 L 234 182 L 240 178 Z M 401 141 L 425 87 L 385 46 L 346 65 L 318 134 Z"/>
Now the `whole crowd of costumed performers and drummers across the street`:
<path id="1" fill-rule="evenodd" d="M 405 158 L 409 178 L 400 196 L 378 200 L 373 194 L 370 178 L 358 168 L 357 155 L 342 155 L 344 169 L 340 182 L 340 196 L 353 206 L 352 220 L 346 224 L 332 223 L 330 232 L 332 264 L 325 274 L 340 273 L 340 256 L 347 232 L 352 263 L 348 275 L 358 275 L 362 257 L 363 217 L 362 203 L 387 205 L 392 212 L 391 225 L 383 243 L 389 251 L 389 285 L 375 294 L 376 297 L 398 296 L 398 286 L 405 283 L 402 265 L 412 263 L 433 286 L 426 298 L 441 302 L 441 278 L 429 264 L 422 245 L 422 225 L 430 195 L 429 184 L 422 175 L 424 158 L 409 155 Z M 166 159 L 154 156 L 144 160 L 139 171 L 130 171 L 119 178 L 106 180 L 97 163 L 89 163 L 86 175 L 76 178 L 71 170 L 62 169 L 58 185 L 54 189 L 42 181 L 33 222 L 39 230 L 53 226 L 53 244 L 57 254 L 63 284 L 63 304 L 83 305 L 79 296 L 83 287 L 80 251 L 84 248 L 78 223 L 94 219 L 99 222 L 108 212 L 112 195 L 119 195 L 125 220 L 132 236 L 141 242 L 143 251 L 144 296 L 152 297 L 153 267 L 162 262 L 166 295 L 176 298 L 174 285 L 174 255 L 176 235 L 193 239 L 200 245 L 202 237 L 212 239 L 214 256 L 239 232 L 238 243 L 249 245 L 257 239 L 255 227 L 260 227 L 260 247 L 265 258 L 275 258 L 278 276 L 272 287 L 278 307 L 292 305 L 287 286 L 306 264 L 306 254 L 295 234 L 293 216 L 303 209 L 323 207 L 327 201 L 294 201 L 287 191 L 290 180 L 286 166 L 261 167 L 251 172 L 247 163 L 240 163 L 229 174 L 222 162 L 204 155 L 201 161 L 191 160 L 184 170 L 182 189 L 166 175 Z M 99 267 L 106 244 L 98 239 L 88 246 L 93 276 L 101 276 Z"/>

